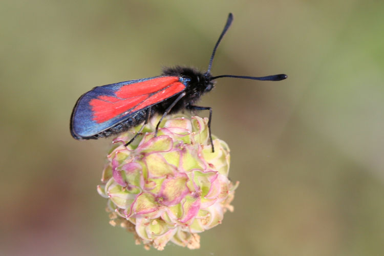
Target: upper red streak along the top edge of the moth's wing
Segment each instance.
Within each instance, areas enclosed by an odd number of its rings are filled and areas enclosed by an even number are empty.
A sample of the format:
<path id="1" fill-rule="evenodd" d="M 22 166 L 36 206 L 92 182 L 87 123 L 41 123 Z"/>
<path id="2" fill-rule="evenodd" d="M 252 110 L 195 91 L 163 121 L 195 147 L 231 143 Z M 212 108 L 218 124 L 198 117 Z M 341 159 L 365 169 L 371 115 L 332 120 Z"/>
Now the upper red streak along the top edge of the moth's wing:
<path id="1" fill-rule="evenodd" d="M 164 89 L 174 82 L 177 82 L 179 77 L 177 76 L 165 76 L 155 79 L 146 80 L 143 82 L 127 84 L 122 86 L 117 92 L 116 96 L 119 98 L 131 98 L 144 94 L 151 94 Z"/>

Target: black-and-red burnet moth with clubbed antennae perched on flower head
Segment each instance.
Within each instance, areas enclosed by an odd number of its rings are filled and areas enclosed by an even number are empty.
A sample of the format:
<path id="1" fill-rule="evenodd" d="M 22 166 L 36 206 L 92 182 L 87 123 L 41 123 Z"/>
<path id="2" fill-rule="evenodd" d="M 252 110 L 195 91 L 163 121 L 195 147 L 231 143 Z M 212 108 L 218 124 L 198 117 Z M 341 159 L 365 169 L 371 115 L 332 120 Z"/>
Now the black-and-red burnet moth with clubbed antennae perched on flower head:
<path id="1" fill-rule="evenodd" d="M 81 95 L 72 111 L 70 124 L 72 137 L 78 140 L 108 137 L 144 122 L 139 132 L 125 144 L 127 146 L 141 133 L 144 125 L 155 114 L 162 115 L 156 126 L 155 134 L 157 134 L 160 122 L 169 113 L 182 110 L 208 110 L 209 139 L 214 152 L 210 128 L 212 109 L 209 106 L 195 105 L 195 102 L 201 95 L 214 88 L 215 80 L 221 77 L 269 81 L 287 78 L 285 74 L 264 77 L 211 75 L 210 70 L 216 49 L 231 25 L 232 19 L 233 16 L 229 13 L 206 72 L 180 66 L 166 68 L 160 76 L 107 84 L 95 87 Z"/>

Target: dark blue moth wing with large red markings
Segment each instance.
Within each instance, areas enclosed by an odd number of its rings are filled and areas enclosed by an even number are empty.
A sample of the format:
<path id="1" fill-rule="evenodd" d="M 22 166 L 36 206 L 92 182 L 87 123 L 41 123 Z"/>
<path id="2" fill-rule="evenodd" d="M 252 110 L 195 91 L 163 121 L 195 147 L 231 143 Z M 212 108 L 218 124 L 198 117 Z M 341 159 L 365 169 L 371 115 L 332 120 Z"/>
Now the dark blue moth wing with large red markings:
<path id="1" fill-rule="evenodd" d="M 76 102 L 71 116 L 75 139 L 95 139 L 110 129 L 185 89 L 177 76 L 158 76 L 95 87 Z"/>

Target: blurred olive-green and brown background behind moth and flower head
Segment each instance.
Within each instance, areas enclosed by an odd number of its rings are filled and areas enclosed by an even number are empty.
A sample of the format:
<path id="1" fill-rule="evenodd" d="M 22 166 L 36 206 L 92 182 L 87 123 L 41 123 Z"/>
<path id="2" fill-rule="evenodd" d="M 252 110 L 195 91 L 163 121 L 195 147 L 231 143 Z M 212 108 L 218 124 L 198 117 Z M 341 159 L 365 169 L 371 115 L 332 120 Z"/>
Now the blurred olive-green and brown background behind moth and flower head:
<path id="1" fill-rule="evenodd" d="M 96 192 L 111 139 L 69 119 L 95 86 L 161 67 L 288 74 L 219 79 L 201 105 L 240 181 L 201 249 L 145 251 Z M 384 2 L 2 1 L 2 255 L 382 255 Z M 202 113 L 206 115 L 207 113 Z"/>

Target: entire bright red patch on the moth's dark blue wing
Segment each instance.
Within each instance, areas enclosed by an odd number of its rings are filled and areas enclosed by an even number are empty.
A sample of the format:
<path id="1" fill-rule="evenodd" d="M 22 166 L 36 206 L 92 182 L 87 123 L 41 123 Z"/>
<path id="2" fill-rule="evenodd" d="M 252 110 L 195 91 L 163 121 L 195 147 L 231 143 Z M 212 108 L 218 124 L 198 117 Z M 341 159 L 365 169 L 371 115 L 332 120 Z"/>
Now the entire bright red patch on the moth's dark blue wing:
<path id="1" fill-rule="evenodd" d="M 116 91 L 116 97 L 100 95 L 89 102 L 93 120 L 102 123 L 124 112 L 133 113 L 169 98 L 185 89 L 178 80 L 176 76 L 159 77 L 126 84 Z"/>

